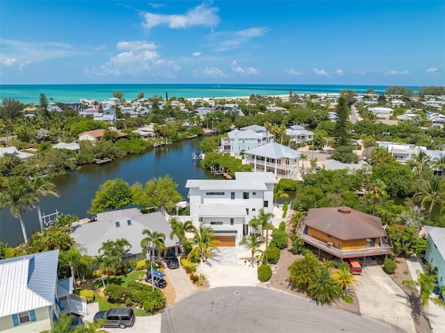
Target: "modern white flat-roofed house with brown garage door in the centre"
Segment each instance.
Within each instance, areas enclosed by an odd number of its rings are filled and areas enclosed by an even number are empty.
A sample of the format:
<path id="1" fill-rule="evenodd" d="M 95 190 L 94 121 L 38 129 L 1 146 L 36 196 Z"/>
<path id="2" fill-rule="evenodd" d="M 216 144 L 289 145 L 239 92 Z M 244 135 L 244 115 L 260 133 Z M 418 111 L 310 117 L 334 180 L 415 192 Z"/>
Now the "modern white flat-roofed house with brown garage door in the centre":
<path id="1" fill-rule="evenodd" d="M 190 217 L 195 227 L 209 225 L 221 241 L 218 246 L 236 246 L 250 234 L 249 222 L 259 210 L 273 211 L 272 172 L 235 172 L 235 179 L 188 179 Z"/>

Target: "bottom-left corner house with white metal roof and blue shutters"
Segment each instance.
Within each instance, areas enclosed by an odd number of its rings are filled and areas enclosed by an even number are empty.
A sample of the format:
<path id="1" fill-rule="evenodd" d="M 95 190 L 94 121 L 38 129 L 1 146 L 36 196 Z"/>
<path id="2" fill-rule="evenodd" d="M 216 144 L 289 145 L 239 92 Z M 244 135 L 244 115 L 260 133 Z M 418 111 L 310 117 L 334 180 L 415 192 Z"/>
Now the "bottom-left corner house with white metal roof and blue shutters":
<path id="1" fill-rule="evenodd" d="M 86 316 L 72 277 L 57 279 L 59 250 L 0 260 L 0 332 L 51 330 L 62 314 Z"/>

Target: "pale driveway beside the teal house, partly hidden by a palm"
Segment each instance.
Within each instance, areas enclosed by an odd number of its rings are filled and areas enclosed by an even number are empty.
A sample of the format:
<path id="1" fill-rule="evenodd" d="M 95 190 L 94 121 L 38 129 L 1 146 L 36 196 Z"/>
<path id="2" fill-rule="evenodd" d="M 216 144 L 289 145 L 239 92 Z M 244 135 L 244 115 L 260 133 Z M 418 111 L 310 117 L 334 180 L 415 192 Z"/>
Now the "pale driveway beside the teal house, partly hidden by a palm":
<path id="1" fill-rule="evenodd" d="M 422 259 L 417 257 L 410 257 L 406 259 L 406 265 L 410 271 L 411 279 L 417 281 L 418 272 L 424 273 Z M 435 297 L 437 297 L 435 295 Z M 425 309 L 428 313 L 428 321 L 432 332 L 445 332 L 445 309 L 433 302 L 428 303 Z"/>

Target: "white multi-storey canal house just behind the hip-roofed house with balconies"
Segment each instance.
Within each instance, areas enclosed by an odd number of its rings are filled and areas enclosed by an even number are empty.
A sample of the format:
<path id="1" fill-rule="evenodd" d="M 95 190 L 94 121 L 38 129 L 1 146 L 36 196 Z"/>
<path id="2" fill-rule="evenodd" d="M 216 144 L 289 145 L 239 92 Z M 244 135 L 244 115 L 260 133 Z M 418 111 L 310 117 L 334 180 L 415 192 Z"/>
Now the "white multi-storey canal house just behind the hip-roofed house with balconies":
<path id="1" fill-rule="evenodd" d="M 241 127 L 229 131 L 227 137 L 221 138 L 220 151 L 238 157 L 241 152 L 273 142 L 273 138 L 264 126 Z"/>

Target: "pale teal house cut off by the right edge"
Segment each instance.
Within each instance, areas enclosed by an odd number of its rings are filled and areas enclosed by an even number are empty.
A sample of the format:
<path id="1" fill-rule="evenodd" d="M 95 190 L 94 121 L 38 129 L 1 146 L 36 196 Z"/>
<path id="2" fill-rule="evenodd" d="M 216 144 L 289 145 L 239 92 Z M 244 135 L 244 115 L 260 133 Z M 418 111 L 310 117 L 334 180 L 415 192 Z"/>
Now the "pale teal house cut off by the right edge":
<path id="1" fill-rule="evenodd" d="M 437 268 L 437 286 L 445 286 L 445 228 L 426 227 L 428 230 L 428 245 L 425 260 L 431 268 Z M 445 291 L 442 292 L 445 297 Z"/>

